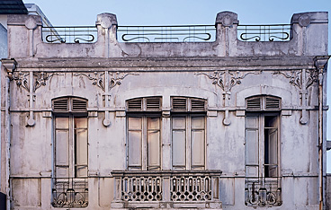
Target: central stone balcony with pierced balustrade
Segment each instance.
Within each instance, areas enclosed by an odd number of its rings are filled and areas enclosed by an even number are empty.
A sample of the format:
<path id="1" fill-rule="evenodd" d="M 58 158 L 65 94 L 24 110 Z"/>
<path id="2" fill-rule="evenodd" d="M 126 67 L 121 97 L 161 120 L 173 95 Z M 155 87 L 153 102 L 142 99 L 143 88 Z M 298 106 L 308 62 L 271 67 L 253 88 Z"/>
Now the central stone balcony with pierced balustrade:
<path id="1" fill-rule="evenodd" d="M 221 171 L 112 171 L 112 208 L 221 209 Z"/>

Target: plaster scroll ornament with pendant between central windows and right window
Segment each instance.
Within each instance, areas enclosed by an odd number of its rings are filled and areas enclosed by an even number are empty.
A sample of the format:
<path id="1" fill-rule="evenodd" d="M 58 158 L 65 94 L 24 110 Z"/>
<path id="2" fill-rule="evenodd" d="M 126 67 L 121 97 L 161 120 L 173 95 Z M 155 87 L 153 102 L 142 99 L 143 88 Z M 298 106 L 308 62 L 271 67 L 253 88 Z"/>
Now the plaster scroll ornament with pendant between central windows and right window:
<path id="1" fill-rule="evenodd" d="M 197 75 L 203 74 L 206 75 L 210 80 L 212 80 L 213 84 L 217 84 L 223 91 L 224 95 L 224 106 L 225 110 L 225 118 L 223 119 L 223 124 L 225 126 L 230 125 L 231 121 L 228 117 L 228 106 L 231 96 L 231 89 L 237 84 L 241 84 L 241 80 L 243 80 L 248 74 L 261 74 L 261 71 L 215 71 L 213 74 L 206 73 L 195 73 Z"/>

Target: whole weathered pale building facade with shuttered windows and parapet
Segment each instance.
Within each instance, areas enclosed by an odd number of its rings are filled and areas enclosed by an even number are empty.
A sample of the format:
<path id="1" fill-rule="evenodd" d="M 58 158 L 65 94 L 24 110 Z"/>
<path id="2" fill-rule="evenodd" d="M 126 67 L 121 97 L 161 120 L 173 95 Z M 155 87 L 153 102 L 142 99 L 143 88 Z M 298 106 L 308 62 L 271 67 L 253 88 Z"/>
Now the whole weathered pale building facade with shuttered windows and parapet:
<path id="1" fill-rule="evenodd" d="M 256 35 L 222 12 L 179 40 L 102 13 L 82 38 L 9 15 L 7 207 L 327 209 L 327 22 Z"/>

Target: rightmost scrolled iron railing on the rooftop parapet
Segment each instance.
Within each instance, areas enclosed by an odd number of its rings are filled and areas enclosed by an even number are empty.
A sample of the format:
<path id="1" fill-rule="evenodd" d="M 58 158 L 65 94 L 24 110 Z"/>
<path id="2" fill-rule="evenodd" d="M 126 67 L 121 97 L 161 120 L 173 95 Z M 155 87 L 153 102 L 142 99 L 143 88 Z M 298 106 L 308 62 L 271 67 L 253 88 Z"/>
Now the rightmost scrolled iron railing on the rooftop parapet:
<path id="1" fill-rule="evenodd" d="M 288 41 L 291 24 L 238 25 L 237 31 L 242 41 Z"/>

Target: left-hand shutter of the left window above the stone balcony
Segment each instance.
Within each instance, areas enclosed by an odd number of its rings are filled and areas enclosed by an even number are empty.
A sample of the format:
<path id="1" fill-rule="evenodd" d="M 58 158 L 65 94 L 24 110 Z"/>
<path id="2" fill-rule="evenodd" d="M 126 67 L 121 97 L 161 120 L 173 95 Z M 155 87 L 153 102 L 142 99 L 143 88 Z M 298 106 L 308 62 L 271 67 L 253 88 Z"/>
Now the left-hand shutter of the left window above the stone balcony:
<path id="1" fill-rule="evenodd" d="M 142 118 L 129 119 L 128 164 L 141 169 Z"/>

